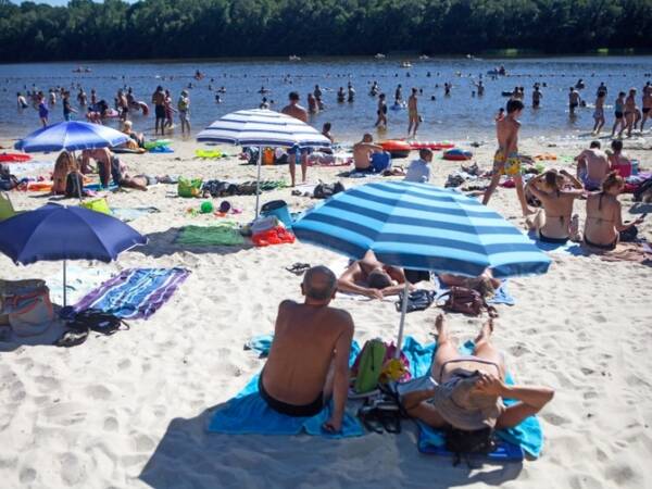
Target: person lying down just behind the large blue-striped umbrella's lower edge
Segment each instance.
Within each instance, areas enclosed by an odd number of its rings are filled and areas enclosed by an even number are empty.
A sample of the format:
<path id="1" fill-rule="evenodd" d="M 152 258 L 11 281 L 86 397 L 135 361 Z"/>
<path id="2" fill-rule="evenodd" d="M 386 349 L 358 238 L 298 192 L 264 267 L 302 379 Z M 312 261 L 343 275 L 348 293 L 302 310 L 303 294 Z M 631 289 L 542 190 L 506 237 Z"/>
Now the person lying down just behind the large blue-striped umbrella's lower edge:
<path id="1" fill-rule="evenodd" d="M 337 288 L 341 292 L 383 299 L 399 293 L 404 284 L 405 273 L 402 268 L 380 263 L 376 254 L 368 250 L 362 260 L 349 265 L 337 280 Z"/>

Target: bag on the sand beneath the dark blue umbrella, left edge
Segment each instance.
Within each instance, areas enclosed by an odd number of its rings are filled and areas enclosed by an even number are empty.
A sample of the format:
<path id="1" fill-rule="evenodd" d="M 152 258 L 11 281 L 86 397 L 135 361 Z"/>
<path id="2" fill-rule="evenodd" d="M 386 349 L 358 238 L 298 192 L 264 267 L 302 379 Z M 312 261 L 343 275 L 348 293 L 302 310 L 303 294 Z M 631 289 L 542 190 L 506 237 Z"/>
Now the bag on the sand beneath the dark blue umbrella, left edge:
<path id="1" fill-rule="evenodd" d="M 54 319 L 50 290 L 45 284 L 39 284 L 25 287 L 14 294 L 5 294 L 2 297 L 2 314 L 7 315 L 16 336 L 40 335 Z"/>

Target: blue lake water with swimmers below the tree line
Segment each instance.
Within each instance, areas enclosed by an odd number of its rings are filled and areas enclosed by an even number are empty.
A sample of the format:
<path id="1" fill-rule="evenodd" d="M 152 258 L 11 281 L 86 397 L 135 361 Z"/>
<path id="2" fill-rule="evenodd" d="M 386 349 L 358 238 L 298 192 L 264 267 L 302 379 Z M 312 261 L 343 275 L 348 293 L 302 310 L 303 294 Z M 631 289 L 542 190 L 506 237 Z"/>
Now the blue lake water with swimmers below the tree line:
<path id="1" fill-rule="evenodd" d="M 604 82 L 609 88 L 605 113 L 606 125 L 613 123 L 613 101 L 619 90 L 636 87 L 640 93 L 647 80 L 652 79 L 652 57 L 610 58 L 546 58 L 521 60 L 469 60 L 469 59 L 410 59 L 411 68 L 401 67 L 408 58 L 374 59 L 310 59 L 304 61 L 192 61 L 192 62 L 98 62 L 84 63 L 91 73 L 73 73 L 79 63 L 30 63 L 0 65 L 0 134 L 5 137 L 22 137 L 39 127 L 38 115 L 28 108 L 16 109 L 17 91 L 25 92 L 36 87 L 47 91 L 50 87 L 71 87 L 71 99 L 76 105 L 76 87 L 80 84 L 89 95 L 95 88 L 100 98 L 113 104 L 118 88 L 131 87 L 137 100 L 150 102 L 151 93 L 161 84 L 172 91 L 173 100 L 179 91 L 192 84 L 191 99 L 192 133 L 220 116 L 239 109 L 256 108 L 261 102 L 258 90 L 261 86 L 271 89 L 268 99 L 275 101 L 273 109 L 280 110 L 290 90 L 301 95 L 302 103 L 315 85 L 324 91 L 326 110 L 311 117 L 316 128 L 325 122 L 333 124 L 333 134 L 339 140 L 351 141 L 364 131 L 377 134 L 373 127 L 376 99 L 368 95 L 373 80 L 377 80 L 387 93 L 389 104 L 393 101 L 398 84 L 403 86 L 406 99 L 412 87 L 423 89 L 419 112 L 424 123 L 419 128 L 422 140 L 474 140 L 491 138 L 493 116 L 506 98 L 501 93 L 515 86 L 525 87 L 528 109 L 522 116 L 524 136 L 575 137 L 592 128 L 592 109 L 597 87 Z M 509 76 L 491 77 L 487 73 L 504 65 Z M 201 82 L 193 79 L 196 70 L 206 76 Z M 428 72 L 430 76 L 428 76 Z M 284 82 L 289 75 L 290 82 Z M 482 76 L 486 86 L 484 97 L 472 97 L 474 83 Z M 213 78 L 213 82 L 211 82 Z M 568 116 L 567 92 L 578 78 L 584 78 L 586 88 L 580 91 L 589 106 L 580 108 L 575 120 Z M 340 86 L 353 84 L 356 98 L 353 103 L 337 103 L 336 91 Z M 542 87 L 541 109 L 534 111 L 531 87 L 538 82 Z M 453 85 L 450 97 L 444 97 L 443 84 Z M 213 90 L 210 90 L 212 85 Z M 224 86 L 223 103 L 215 103 L 215 90 Z M 75 87 L 74 89 L 72 87 Z M 431 100 L 435 96 L 436 100 Z M 82 112 L 84 112 L 82 110 Z M 152 111 L 153 112 L 153 111 Z M 405 110 L 389 111 L 389 127 L 378 137 L 404 137 L 408 125 Z M 50 122 L 63 120 L 61 101 L 50 106 Z M 148 117 L 133 115 L 136 129 L 151 134 L 152 113 Z M 109 122 L 115 125 L 115 122 Z M 176 136 L 178 137 L 178 130 Z"/>

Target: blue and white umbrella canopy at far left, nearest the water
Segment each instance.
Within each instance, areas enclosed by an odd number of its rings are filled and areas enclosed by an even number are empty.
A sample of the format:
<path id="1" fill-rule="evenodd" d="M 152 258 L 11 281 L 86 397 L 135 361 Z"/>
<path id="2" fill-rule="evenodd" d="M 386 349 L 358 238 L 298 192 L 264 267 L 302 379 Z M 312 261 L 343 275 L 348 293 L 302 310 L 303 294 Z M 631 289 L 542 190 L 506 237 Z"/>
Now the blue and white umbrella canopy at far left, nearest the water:
<path id="1" fill-rule="evenodd" d="M 77 151 L 106 148 L 129 140 L 126 134 L 100 124 L 68 121 L 35 130 L 15 143 L 15 148 L 26 152 Z"/>

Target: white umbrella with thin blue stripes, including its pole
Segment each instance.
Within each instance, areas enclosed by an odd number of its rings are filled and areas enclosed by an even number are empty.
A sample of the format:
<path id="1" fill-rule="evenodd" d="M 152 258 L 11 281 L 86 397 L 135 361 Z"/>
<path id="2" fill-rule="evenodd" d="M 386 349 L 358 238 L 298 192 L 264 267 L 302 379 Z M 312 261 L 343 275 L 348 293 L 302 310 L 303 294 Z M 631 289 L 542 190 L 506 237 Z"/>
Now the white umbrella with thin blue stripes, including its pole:
<path id="1" fill-rule="evenodd" d="M 298 118 L 266 109 L 231 112 L 197 135 L 199 142 L 252 146 L 259 148 L 258 183 L 261 180 L 263 148 L 328 148 L 330 140 Z M 255 192 L 255 215 L 260 191 Z"/>

